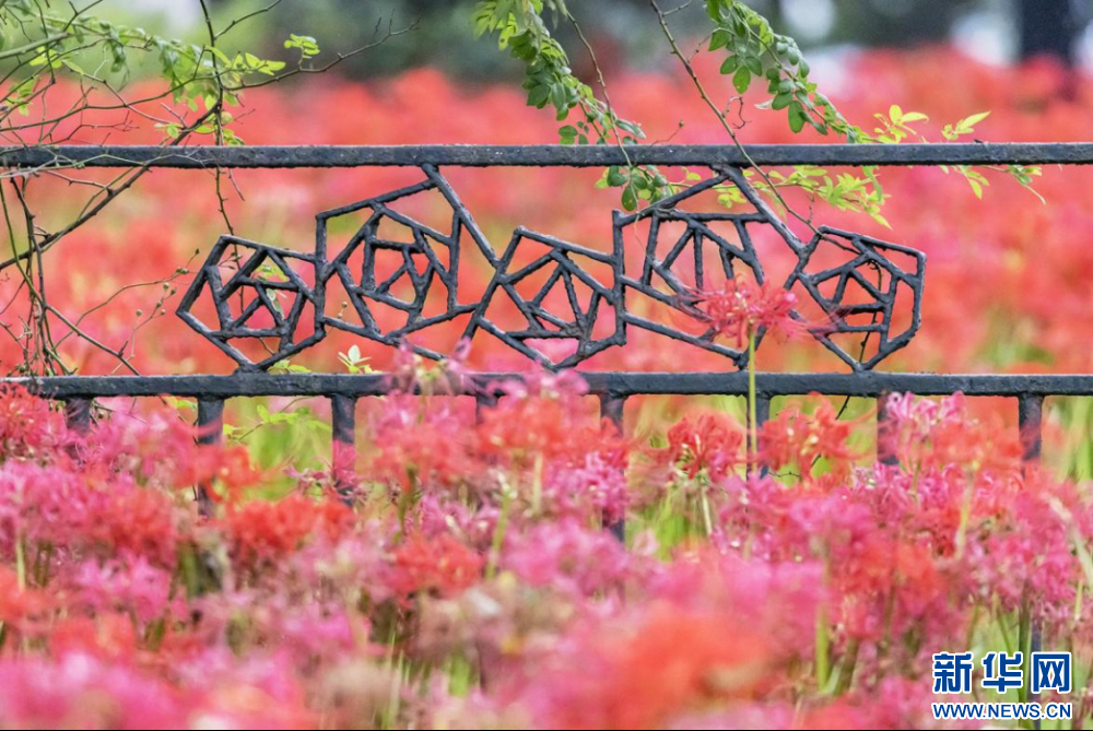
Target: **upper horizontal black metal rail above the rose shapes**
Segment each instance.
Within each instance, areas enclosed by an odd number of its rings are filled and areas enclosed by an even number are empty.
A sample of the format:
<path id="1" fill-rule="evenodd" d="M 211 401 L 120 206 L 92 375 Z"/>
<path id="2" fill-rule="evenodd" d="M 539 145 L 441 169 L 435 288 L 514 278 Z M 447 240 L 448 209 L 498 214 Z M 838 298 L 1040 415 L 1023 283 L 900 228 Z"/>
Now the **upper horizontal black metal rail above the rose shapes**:
<path id="1" fill-rule="evenodd" d="M 1089 165 L 1090 142 L 628 145 L 0 146 L 0 167 L 465 167 L 604 165 Z"/>

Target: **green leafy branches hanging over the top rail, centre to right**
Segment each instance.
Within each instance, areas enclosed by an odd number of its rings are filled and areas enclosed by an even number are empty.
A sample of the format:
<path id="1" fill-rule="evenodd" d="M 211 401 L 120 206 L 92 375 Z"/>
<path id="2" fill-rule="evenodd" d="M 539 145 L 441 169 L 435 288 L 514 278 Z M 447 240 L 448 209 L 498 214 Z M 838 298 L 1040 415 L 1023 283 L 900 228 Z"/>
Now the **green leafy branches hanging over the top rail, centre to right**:
<path id="1" fill-rule="evenodd" d="M 926 115 L 904 111 L 897 105 L 892 105 L 886 115 L 875 115 L 879 126 L 872 133 L 851 125 L 810 79 L 811 68 L 796 40 L 775 33 L 765 17 L 739 0 L 706 0 L 705 7 L 715 26 L 708 50 L 725 54 L 720 73 L 730 78 L 732 87 L 741 95 L 757 83 L 766 82 L 769 98 L 759 106 L 785 110 L 787 123 L 795 133 L 810 128 L 850 143 L 898 144 L 912 139 L 924 140 L 914 126 L 927 121 Z M 608 102 L 597 98 L 588 84 L 574 76 L 565 49 L 551 37 L 543 20 L 545 11 L 553 14 L 555 23 L 562 19 L 572 21 L 564 0 L 481 0 L 474 10 L 474 30 L 478 35 L 495 35 L 498 47 L 507 48 L 524 63 L 528 104 L 540 109 L 550 105 L 557 119 L 566 122 L 559 129 L 561 143 L 626 145 L 644 139 L 637 123 L 616 117 Z M 668 33 L 667 25 L 663 27 Z M 602 79 L 600 81 L 602 83 Z M 583 118 L 571 119 L 574 110 Z M 969 134 L 988 114 L 972 115 L 949 125 L 942 135 L 956 140 Z M 983 173 L 966 166 L 956 169 L 968 180 L 973 192 L 982 197 L 983 188 L 988 185 Z M 1021 167 L 1004 172 L 1030 189 L 1032 177 L 1039 174 L 1037 168 Z M 862 168 L 859 173 L 830 174 L 822 168 L 803 166 L 794 168 L 788 175 L 772 172 L 761 177 L 761 180 L 753 180 L 755 187 L 777 204 L 784 203 L 777 192 L 779 188 L 799 188 L 833 208 L 863 213 L 889 225 L 881 214 L 888 196 L 874 167 Z M 694 179 L 689 175 L 689 181 Z M 633 165 L 604 170 L 597 185 L 621 188 L 622 205 L 627 211 L 635 210 L 643 201 L 657 201 L 683 187 L 670 182 L 654 167 Z M 719 192 L 726 205 L 743 202 L 739 191 L 731 187 Z"/>

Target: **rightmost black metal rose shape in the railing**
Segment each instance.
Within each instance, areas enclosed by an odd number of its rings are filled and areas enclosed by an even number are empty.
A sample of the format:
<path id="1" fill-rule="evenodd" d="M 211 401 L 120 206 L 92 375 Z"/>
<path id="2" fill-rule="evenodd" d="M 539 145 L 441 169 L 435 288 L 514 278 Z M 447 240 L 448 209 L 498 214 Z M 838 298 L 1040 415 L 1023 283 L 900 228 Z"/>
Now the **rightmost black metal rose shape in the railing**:
<path id="1" fill-rule="evenodd" d="M 810 328 L 813 337 L 855 370 L 868 370 L 918 331 L 925 270 L 921 251 L 822 226 L 785 288 L 802 285 L 827 319 Z M 906 307 L 897 310 L 897 303 Z M 909 320 L 896 325 L 901 310 Z M 859 345 L 860 359 L 835 341 L 839 335 Z"/>

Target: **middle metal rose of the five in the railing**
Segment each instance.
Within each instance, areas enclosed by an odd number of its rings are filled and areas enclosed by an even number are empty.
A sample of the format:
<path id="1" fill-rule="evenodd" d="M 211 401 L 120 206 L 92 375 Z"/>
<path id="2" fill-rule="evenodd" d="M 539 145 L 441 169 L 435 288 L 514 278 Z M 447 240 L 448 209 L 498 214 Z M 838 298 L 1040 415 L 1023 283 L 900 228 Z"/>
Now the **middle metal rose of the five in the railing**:
<path id="1" fill-rule="evenodd" d="M 515 263 L 524 252 L 533 258 L 522 266 Z M 485 330 L 550 368 L 572 368 L 602 350 L 622 345 L 625 326 L 618 262 L 616 256 L 517 228 L 466 335 Z M 600 282 L 588 271 L 596 263 L 608 271 L 611 281 Z M 530 284 L 530 292 L 521 294 L 525 283 Z M 492 319 L 491 310 L 505 305 L 526 327 L 504 329 Z"/>

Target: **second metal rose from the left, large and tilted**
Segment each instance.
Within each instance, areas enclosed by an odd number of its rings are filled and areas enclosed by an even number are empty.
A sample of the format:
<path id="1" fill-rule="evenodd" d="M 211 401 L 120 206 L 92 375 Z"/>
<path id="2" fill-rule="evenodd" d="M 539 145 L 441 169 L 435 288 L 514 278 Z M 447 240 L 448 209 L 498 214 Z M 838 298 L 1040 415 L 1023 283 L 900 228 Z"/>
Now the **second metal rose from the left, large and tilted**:
<path id="1" fill-rule="evenodd" d="M 460 303 L 458 297 L 462 232 L 470 234 L 486 261 L 495 263 L 496 257 L 447 180 L 432 166 L 423 169 L 426 178 L 421 182 L 317 216 L 320 251 L 326 250 L 332 224 L 349 216 L 353 216 L 351 222 L 363 219 L 320 278 L 324 287 L 338 278 L 356 317 L 320 313 L 321 326 L 398 346 L 411 333 L 478 307 L 478 302 Z M 437 231 L 398 209 L 400 201 L 427 191 L 437 191 L 449 209 L 445 214 L 450 222 L 446 231 Z M 391 310 L 400 321 L 385 327 L 379 313 Z M 387 322 L 391 319 L 387 318 Z M 414 349 L 430 357 L 442 357 L 419 345 Z"/>

